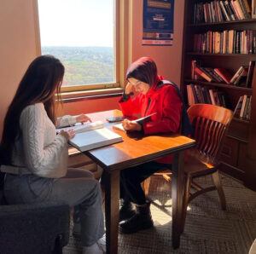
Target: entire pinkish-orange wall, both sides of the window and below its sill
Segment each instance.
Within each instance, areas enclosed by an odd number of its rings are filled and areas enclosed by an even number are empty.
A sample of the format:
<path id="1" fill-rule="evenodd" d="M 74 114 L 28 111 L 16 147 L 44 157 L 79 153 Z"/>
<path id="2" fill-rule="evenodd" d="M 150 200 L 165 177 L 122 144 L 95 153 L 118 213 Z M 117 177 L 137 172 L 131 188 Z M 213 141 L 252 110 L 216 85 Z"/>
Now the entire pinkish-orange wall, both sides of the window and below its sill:
<path id="1" fill-rule="evenodd" d="M 126 1 L 126 0 L 125 0 Z M 179 84 L 181 68 L 183 4 L 175 0 L 173 46 L 143 46 L 143 0 L 131 4 L 131 61 L 149 55 L 156 61 L 165 78 Z M 26 67 L 37 56 L 37 29 L 33 4 L 35 0 L 1 0 L 0 8 L 0 136 L 3 118 Z M 61 113 L 79 114 L 118 107 L 118 98 L 65 104 Z"/>

